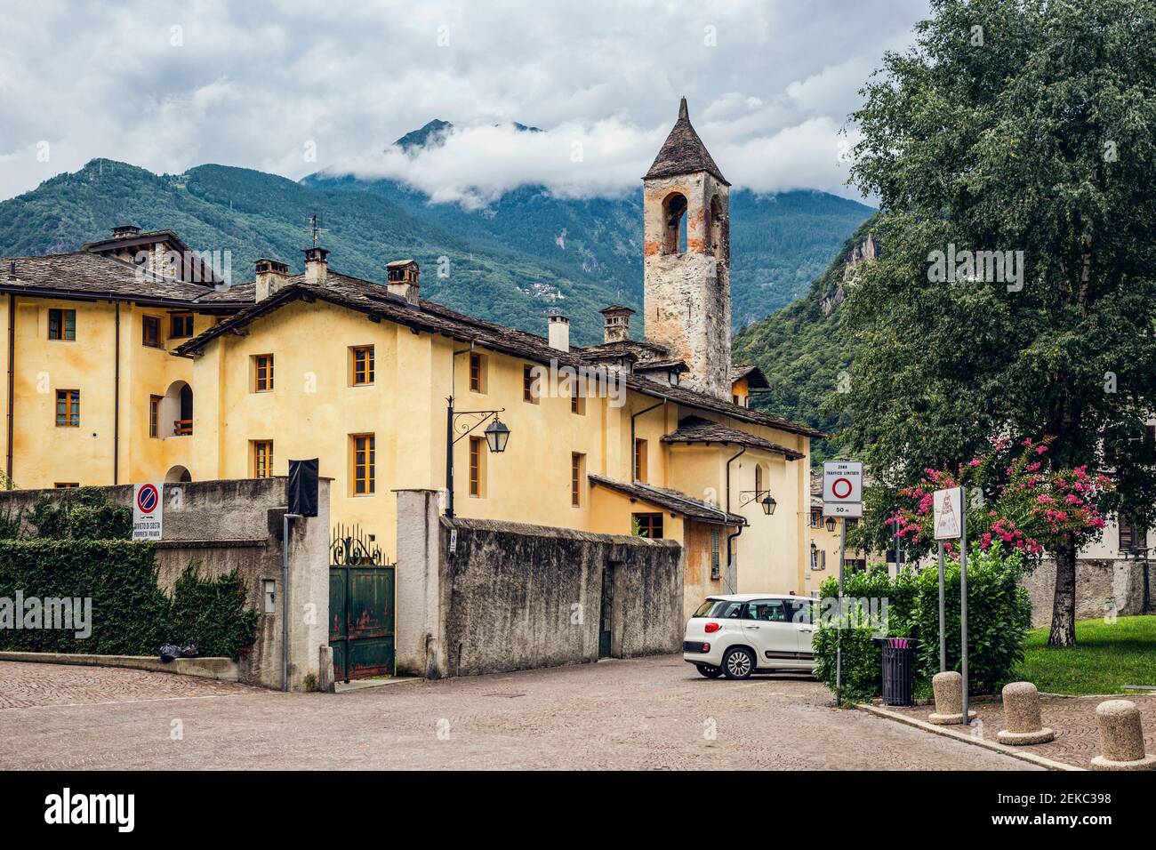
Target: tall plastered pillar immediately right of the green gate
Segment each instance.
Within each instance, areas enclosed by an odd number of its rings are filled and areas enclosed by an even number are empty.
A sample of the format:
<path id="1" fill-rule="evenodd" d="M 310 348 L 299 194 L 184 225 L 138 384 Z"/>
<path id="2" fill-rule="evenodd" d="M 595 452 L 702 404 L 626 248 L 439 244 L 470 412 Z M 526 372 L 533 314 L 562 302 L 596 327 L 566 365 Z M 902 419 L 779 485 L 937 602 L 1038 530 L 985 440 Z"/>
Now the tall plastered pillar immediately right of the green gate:
<path id="1" fill-rule="evenodd" d="M 449 673 L 442 606 L 442 518 L 438 491 L 398 494 L 394 659 L 399 674 L 440 679 Z"/>

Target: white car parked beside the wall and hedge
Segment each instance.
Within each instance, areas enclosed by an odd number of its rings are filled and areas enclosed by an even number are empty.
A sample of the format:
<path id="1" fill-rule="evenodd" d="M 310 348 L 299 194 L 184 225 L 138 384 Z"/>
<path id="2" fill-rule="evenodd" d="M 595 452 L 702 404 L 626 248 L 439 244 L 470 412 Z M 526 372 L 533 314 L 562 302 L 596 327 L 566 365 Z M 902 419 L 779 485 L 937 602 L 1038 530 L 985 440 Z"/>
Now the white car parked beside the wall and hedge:
<path id="1" fill-rule="evenodd" d="M 682 658 L 707 679 L 746 679 L 771 670 L 810 671 L 815 601 L 780 593 L 707 597 L 687 621 Z"/>

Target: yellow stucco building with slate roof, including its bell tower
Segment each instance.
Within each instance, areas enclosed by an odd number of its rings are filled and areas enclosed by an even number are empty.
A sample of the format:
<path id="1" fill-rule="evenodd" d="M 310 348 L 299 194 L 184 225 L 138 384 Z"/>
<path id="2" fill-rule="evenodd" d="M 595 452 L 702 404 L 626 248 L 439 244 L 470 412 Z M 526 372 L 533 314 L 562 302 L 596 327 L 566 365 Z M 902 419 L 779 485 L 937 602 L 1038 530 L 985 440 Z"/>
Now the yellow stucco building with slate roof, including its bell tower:
<path id="1" fill-rule="evenodd" d="M 612 306 L 587 347 L 562 316 L 536 335 L 427 301 L 410 260 L 377 283 L 314 246 L 303 274 L 262 259 L 224 287 L 175 234 L 135 228 L 5 259 L 9 481 L 283 475 L 316 457 L 334 522 L 388 555 L 393 490 L 444 489 L 450 454 L 458 516 L 677 540 L 687 611 L 806 593 L 817 433 L 750 409 L 762 376 L 731 364 L 728 186 L 683 104 L 644 178 L 643 339 Z"/>

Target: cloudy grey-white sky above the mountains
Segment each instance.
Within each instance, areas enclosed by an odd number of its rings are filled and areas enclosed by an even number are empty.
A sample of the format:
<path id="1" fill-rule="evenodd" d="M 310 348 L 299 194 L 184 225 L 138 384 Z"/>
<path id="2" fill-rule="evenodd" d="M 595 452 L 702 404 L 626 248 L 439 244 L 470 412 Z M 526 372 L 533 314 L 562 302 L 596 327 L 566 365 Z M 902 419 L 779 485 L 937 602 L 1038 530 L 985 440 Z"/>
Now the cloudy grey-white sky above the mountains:
<path id="1" fill-rule="evenodd" d="M 682 95 L 735 185 L 855 197 L 839 131 L 927 13 L 926 0 L 6 6 L 0 199 L 109 157 L 381 175 L 464 204 L 527 183 L 629 191 Z M 386 151 L 432 118 L 457 127 L 443 148 Z"/>

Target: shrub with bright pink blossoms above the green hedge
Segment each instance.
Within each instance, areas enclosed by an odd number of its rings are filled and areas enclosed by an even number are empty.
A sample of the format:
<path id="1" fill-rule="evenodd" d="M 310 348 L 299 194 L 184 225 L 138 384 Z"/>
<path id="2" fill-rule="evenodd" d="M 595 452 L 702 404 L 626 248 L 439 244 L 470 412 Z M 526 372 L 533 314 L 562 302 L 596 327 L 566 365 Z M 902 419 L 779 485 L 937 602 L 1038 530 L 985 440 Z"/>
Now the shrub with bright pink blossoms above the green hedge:
<path id="1" fill-rule="evenodd" d="M 971 493 L 985 480 L 995 478 L 993 471 L 1002 467 L 1005 475 L 999 476 L 994 495 L 981 505 L 976 504 L 976 500 L 968 500 L 969 542 L 975 541 L 985 552 L 999 542 L 1029 557 L 1042 556 L 1066 535 L 1072 535 L 1077 546 L 1083 545 L 1104 527 L 1098 503 L 1111 482 L 1104 475 L 1090 475 L 1084 466 L 1046 468 L 1050 442 L 1050 438 L 1035 442 L 1029 437 L 1020 444 L 1018 452 L 1014 452 L 1009 441 L 995 439 L 988 452 L 959 464 L 954 472 L 924 470 L 918 485 L 899 490 L 899 496 L 911 504 L 896 511 L 887 520 L 888 525 L 901 539 L 912 544 L 931 542 L 935 490 L 962 486 Z M 957 547 L 949 542 L 947 548 L 955 552 Z"/>

